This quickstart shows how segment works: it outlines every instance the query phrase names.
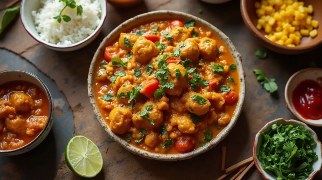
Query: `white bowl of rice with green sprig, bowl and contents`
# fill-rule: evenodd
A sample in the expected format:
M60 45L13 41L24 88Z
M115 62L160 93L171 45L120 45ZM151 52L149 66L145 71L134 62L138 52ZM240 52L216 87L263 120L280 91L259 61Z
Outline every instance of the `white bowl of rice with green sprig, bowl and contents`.
M65 7L66 6L66 7ZM56 51L91 43L107 15L106 0L23 0L21 21L33 39Z

